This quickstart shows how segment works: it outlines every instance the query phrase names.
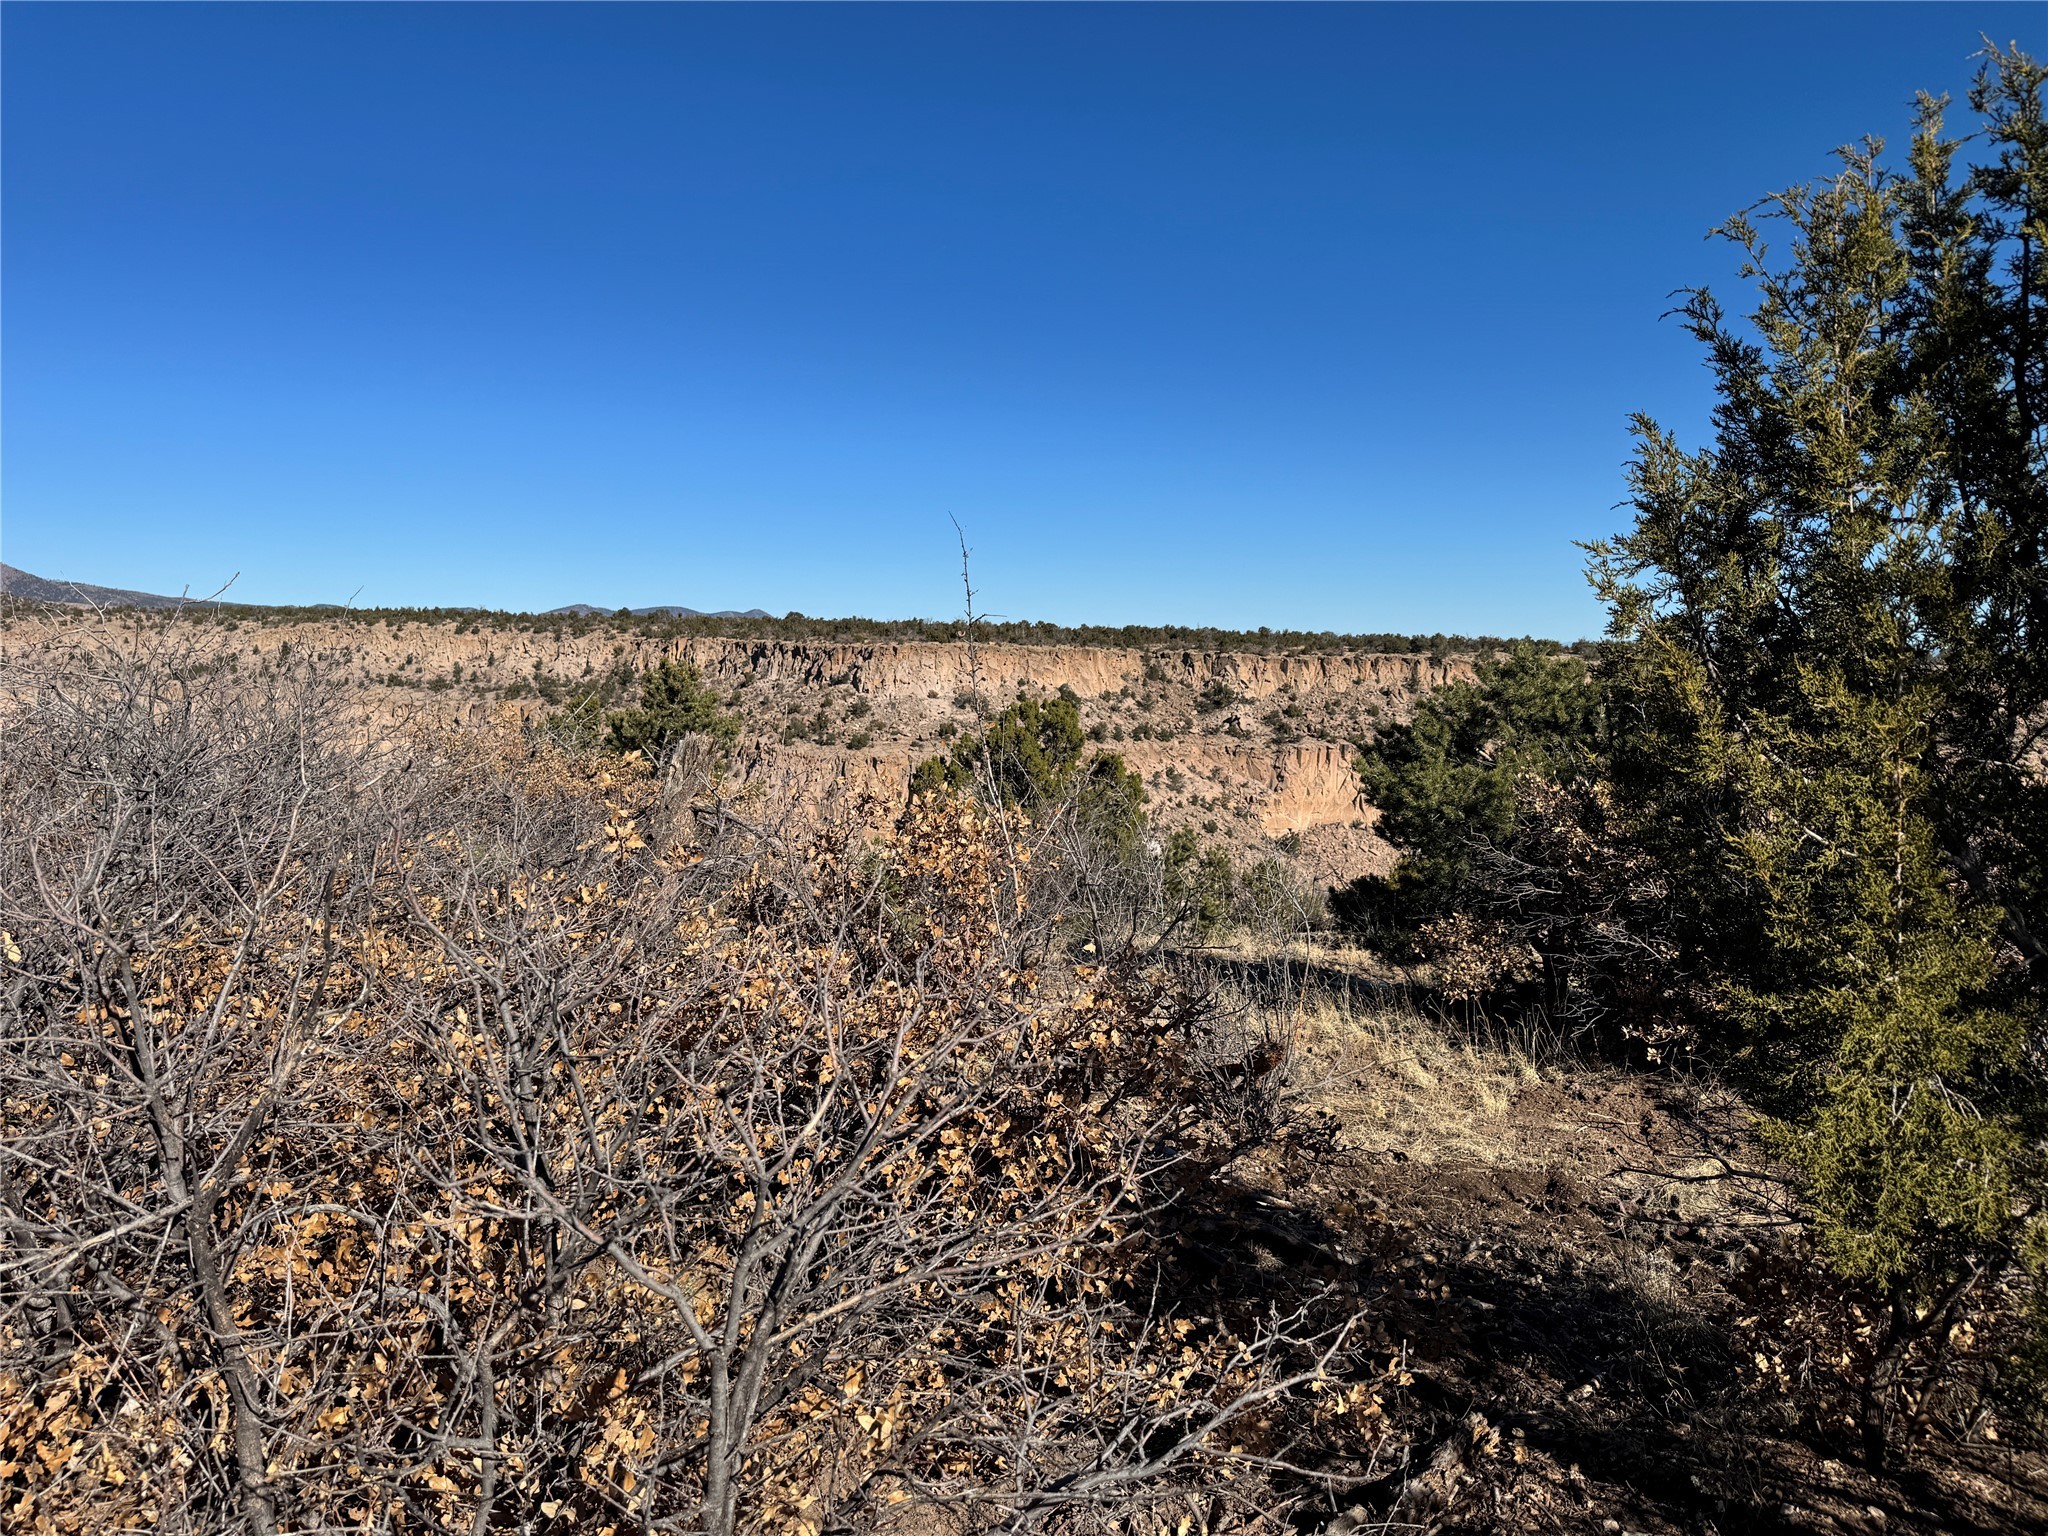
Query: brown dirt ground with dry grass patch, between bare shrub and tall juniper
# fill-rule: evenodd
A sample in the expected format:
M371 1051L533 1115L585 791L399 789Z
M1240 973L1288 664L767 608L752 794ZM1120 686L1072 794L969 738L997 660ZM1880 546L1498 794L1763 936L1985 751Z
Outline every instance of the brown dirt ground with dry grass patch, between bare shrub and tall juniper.
M1356 1294L1409 1444L1296 1528L2048 1532L2042 1440L1995 1393L1931 1401L1864 1470L1868 1313L1808 1262L1733 1096L1358 997L1296 1020L1292 1130L1227 1169L1214 1221L1245 1264ZM1956 1374L1982 1386L1999 1350L1966 1337Z

